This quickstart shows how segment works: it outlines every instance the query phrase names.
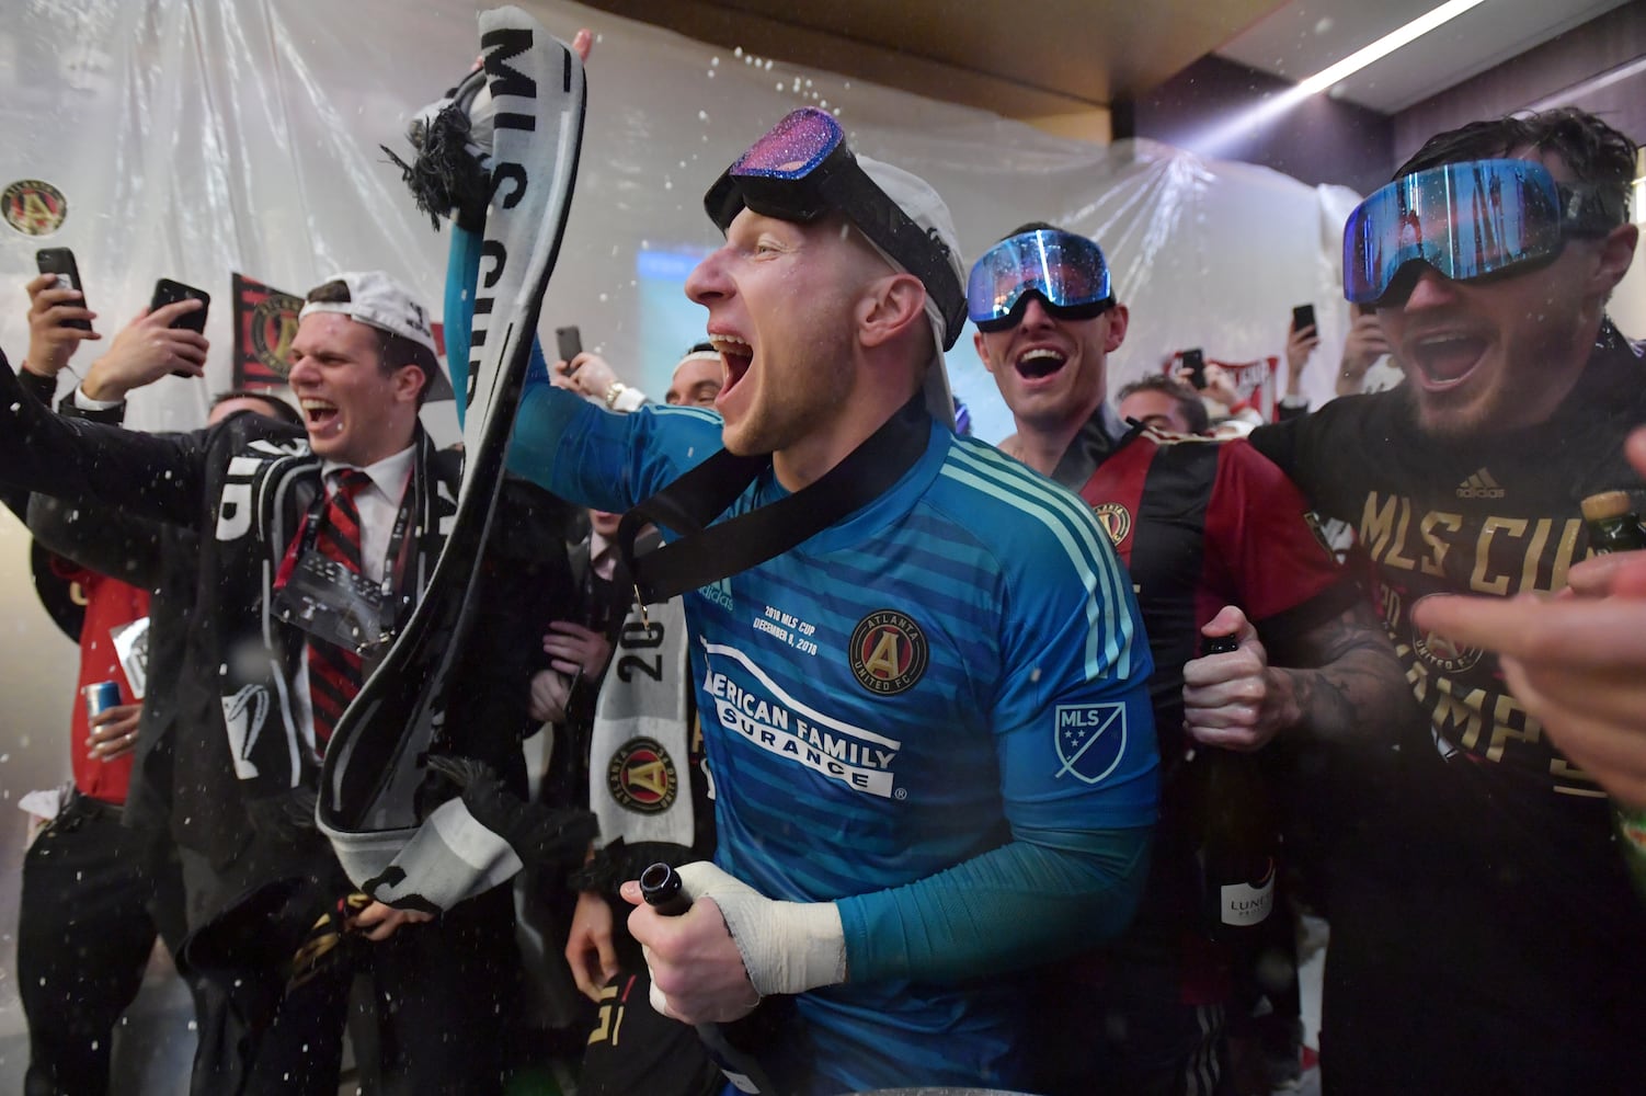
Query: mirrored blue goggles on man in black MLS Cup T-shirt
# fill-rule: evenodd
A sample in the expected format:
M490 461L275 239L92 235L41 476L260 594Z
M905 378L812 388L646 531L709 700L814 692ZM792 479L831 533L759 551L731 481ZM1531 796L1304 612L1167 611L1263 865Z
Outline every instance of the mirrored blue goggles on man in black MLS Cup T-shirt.
M1618 194L1555 183L1531 160L1472 160L1417 171L1363 201L1343 227L1343 296L1373 304L1422 262L1465 281L1549 262L1572 237L1623 224Z

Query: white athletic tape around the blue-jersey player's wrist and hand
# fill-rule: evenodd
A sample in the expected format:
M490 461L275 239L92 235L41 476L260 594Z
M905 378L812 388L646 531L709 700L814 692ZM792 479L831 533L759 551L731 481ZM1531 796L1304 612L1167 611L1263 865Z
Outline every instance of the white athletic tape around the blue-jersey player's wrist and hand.
M846 930L833 902L774 902L708 861L680 869L691 900L714 899L762 997L846 981Z

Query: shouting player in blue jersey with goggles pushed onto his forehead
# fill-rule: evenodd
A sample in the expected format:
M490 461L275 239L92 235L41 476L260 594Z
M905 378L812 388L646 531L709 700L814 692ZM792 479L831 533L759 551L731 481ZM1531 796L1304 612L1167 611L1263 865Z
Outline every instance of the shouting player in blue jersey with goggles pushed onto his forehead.
M782 1091L1019 1086L1012 973L1121 931L1147 867L1131 583L1075 495L950 430L963 268L930 186L800 110L706 206L726 245L686 291L714 411L538 382L510 454L606 510L742 469L706 532L662 522L663 551L772 553L685 596L719 848L681 871L690 912L630 915L653 1004L729 1022L792 996L759 1055Z

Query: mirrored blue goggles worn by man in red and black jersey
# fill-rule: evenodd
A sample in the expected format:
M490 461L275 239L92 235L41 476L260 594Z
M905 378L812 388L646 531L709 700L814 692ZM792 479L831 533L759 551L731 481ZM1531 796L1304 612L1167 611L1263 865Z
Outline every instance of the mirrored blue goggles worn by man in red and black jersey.
M1113 306L1103 248L1057 229L1006 237L971 268L966 314L978 331L1016 327L1030 293L1062 319L1090 319Z

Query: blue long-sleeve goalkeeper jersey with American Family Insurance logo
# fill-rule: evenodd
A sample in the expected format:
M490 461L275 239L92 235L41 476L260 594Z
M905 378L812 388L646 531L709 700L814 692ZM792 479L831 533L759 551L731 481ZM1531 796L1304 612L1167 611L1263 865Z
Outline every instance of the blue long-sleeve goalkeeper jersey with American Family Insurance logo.
M532 383L510 467L621 512L719 448L711 411ZM767 471L729 513L782 495ZM841 910L848 982L800 997L820 1091L1021 1083L1022 987L984 976L1118 931L1155 816L1149 648L1090 510L933 423L884 495L686 612L716 861Z

